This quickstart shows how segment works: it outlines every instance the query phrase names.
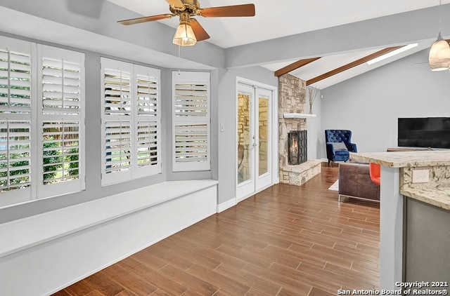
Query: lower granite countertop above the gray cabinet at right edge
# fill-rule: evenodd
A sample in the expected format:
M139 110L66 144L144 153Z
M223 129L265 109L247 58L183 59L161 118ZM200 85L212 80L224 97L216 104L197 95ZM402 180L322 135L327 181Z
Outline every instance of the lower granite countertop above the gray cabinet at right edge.
M400 194L444 210L450 210L450 187L405 189L400 190Z

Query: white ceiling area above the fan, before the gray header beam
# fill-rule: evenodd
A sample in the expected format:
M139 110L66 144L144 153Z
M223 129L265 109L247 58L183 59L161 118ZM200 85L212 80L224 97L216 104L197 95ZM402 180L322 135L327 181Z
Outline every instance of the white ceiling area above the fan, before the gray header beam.
M141 15L169 12L165 0L108 0ZM437 0L199 0L202 8L254 3L252 18L196 17L210 34L208 42L222 48L393 15L439 5ZM442 4L450 3L443 0ZM177 18L160 22L176 27Z

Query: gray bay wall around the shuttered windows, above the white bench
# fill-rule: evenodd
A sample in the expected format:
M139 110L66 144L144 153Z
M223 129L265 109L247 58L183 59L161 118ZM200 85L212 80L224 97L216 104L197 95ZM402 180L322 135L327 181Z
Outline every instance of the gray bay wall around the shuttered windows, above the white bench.
M17 36L16 36L17 37ZM35 41L35 40L34 40ZM38 41L39 43L46 43ZM52 44L53 46L55 44ZM60 46L68 48L67 46ZM155 67L154 65L147 65L161 69L161 102L162 102L162 173L150 177L143 177L138 180L129 182L122 182L120 184L113 184L107 187L101 187L101 53L92 53L83 51L79 48L69 48L72 50L82 51L86 55L86 189L84 191L67 194L64 196L56 196L51 199L42 199L24 203L17 206L0 209L0 223L10 220L27 217L44 213L49 210L56 210L66 206L72 206L77 203L100 199L112 194L118 194L124 191L129 191L139 187L157 184L166 180L202 180L215 179L217 180L217 83L218 71L212 71L212 123L211 123L211 137L212 137L212 151L211 151L211 170L200 172L172 172L172 69L165 69ZM146 65L143 62L136 60L126 60L122 58L108 56L108 58L115 58L117 60L124 60L127 62L134 62L140 65ZM263 69L263 68L259 68ZM187 69L188 70L188 69ZM263 71L264 72L264 71ZM273 75L272 75L273 76Z

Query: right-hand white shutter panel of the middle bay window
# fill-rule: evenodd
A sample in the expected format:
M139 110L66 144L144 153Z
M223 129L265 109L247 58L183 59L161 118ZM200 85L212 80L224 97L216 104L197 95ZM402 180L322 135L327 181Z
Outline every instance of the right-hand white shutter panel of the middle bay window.
M160 70L134 65L136 177L161 173Z

